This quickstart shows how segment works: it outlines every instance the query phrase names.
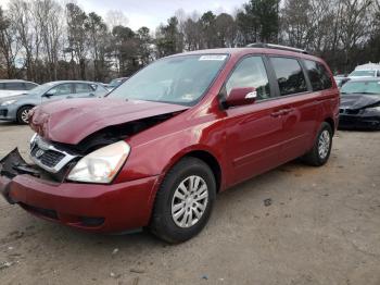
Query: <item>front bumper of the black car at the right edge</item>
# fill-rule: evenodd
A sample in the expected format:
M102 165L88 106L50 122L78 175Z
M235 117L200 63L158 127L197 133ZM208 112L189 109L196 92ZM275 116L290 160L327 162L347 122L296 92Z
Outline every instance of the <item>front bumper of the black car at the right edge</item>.
M341 129L380 129L380 116L340 114L339 128Z

